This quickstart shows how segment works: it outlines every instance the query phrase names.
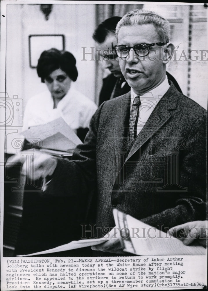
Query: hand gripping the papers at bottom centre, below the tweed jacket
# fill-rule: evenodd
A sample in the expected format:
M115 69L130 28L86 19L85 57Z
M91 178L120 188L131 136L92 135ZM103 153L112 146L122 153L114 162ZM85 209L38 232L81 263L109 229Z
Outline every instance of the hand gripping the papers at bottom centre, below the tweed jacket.
M104 237L109 237L110 239L107 242L104 242L103 244L92 246L91 249L94 251L124 254L124 251L121 247L121 243L119 239L120 233L117 228L113 228Z

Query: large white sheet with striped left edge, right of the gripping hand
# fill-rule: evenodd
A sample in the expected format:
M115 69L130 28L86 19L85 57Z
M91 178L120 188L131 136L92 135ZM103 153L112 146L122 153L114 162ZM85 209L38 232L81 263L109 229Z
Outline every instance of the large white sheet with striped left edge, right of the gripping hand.
M113 210L116 226L123 229L121 244L124 251L137 255L205 255L202 246L185 246L180 239L149 226L134 217Z

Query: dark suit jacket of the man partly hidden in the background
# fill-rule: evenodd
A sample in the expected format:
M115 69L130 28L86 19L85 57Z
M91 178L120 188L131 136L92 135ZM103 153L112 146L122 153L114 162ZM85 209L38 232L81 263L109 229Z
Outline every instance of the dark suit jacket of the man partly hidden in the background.
M173 82L175 85L176 89L182 93L180 86L178 85L176 79L168 72L166 72L166 75L168 77L168 81ZM113 92L114 86L116 84L118 78L114 76L114 74L108 75L106 78L103 79L103 86L101 88L100 96L99 96L99 105L101 105L104 101L110 100L111 94ZM120 92L118 93L117 96L121 96L123 94L126 94L130 91L130 86L122 76L122 82L125 82L125 85L121 88Z

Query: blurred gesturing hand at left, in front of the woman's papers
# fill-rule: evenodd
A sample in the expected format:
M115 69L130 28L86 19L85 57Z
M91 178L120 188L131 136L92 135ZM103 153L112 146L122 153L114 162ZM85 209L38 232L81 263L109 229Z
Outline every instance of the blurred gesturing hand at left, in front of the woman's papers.
M57 159L38 150L34 150L33 153L26 150L10 157L6 162L6 167L20 163L22 164L22 174L34 181L51 176L57 166Z

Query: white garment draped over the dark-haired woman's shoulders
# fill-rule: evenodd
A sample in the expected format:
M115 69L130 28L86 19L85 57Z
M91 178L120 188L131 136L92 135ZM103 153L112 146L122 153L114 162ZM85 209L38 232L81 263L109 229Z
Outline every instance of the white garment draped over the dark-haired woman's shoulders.
M24 110L23 128L44 124L62 117L76 132L79 127L88 127L97 105L85 95L71 87L67 94L59 101L57 108L53 109L53 98L49 91L31 97Z

